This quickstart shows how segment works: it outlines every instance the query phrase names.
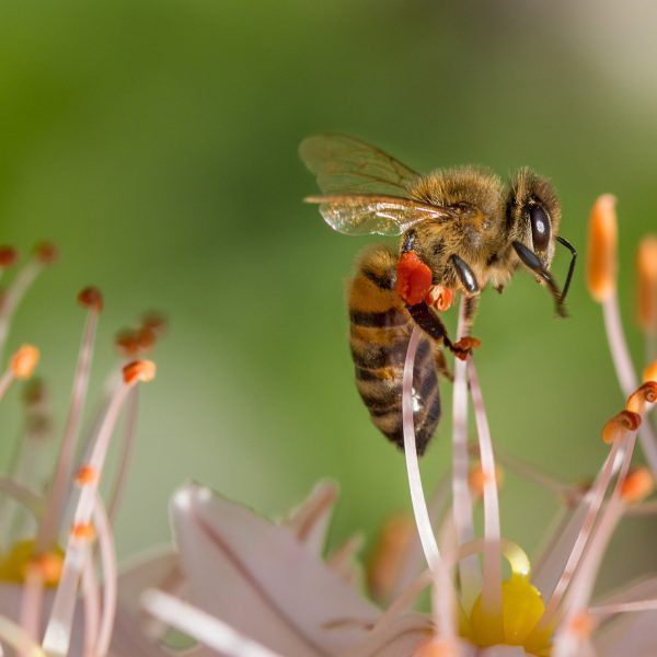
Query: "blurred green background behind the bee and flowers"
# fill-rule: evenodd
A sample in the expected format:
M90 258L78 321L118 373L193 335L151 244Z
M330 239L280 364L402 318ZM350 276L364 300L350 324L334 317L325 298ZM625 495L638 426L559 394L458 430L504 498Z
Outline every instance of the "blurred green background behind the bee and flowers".
M362 530L370 545L408 506L403 459L368 420L346 339L344 280L371 240L332 232L301 203L316 191L297 155L310 134L358 136L420 171L531 165L554 181L580 253L592 200L616 194L638 364L633 257L655 227L656 23L652 3L612 0L3 3L0 240L61 249L10 344L42 347L61 423L81 287L106 296L96 395L115 331L151 308L171 319L142 391L120 556L169 540L169 496L191 479L274 515L335 479L332 544ZM557 279L566 268L560 253ZM494 440L568 481L597 471L599 429L622 404L583 274L567 321L519 275L502 297L484 293L474 332ZM3 406L3 460L18 395ZM428 488L449 425L448 411L423 463ZM508 475L503 505L505 533L535 549L555 502ZM655 567L654 529L624 523L610 580L642 551Z

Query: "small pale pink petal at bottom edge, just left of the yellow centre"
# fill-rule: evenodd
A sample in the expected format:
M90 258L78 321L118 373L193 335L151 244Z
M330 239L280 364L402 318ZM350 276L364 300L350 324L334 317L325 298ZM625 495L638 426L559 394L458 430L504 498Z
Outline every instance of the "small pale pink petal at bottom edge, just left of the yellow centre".
M431 633L429 616L418 613L396 616L341 657L413 657Z

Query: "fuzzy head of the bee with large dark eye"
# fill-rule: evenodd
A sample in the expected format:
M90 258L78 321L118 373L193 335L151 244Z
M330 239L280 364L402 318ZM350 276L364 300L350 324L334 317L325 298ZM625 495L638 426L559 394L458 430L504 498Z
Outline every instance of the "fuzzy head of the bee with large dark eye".
M506 201L506 224L511 241L537 254L545 269L554 257L561 222L561 204L552 184L529 169L511 178Z

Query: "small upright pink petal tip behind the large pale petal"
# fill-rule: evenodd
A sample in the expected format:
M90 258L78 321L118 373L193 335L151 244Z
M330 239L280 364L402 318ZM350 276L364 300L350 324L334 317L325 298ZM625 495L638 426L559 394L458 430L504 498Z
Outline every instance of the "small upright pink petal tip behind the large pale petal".
M319 482L281 525L289 527L313 554L320 555L326 542L336 500L337 486L333 482Z

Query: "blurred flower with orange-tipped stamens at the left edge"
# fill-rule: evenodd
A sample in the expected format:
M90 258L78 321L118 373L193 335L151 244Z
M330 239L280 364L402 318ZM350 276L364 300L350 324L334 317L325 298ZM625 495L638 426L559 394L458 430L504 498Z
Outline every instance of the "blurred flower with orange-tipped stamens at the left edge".
M0 354L20 301L39 272L55 258L56 250L50 244L37 245L4 290L0 303ZM0 273L15 261L13 249L0 247ZM132 353L130 359L122 359L118 370L112 373L110 392L101 411L92 428L84 434L82 463L76 465L103 297L100 290L89 287L78 295L78 302L87 311L87 325L51 477L44 481L41 474L44 447L53 429L47 394L41 381L31 380L24 391L25 429L13 472L0 479L3 494L0 498L0 641L25 655L102 657L107 654L116 611L117 578L111 522L128 459L123 459L107 504L99 493L99 484L124 406L127 417L124 451L129 452L138 414L136 387L151 380L155 371L154 364L138 358L137 353ZM142 331L147 326L154 336L150 320L145 322ZM20 347L0 377L0 397L14 381L31 379L38 359L39 351L33 345ZM103 575L102 591L96 564Z

